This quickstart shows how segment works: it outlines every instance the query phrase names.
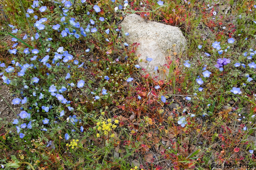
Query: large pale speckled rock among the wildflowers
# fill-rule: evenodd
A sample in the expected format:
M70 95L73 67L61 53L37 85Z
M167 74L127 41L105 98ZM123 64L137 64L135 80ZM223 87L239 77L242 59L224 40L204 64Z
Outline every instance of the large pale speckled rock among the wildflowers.
M135 42L140 44L135 53L138 56L138 65L147 69L152 77L159 76L158 80L166 78L168 69L166 69L165 75L161 70L157 73L154 69L156 66L160 68L168 64L165 57L170 56L170 59L174 60L174 53L176 53L177 58L185 50L187 41L180 29L155 21L145 21L136 14L126 16L121 26L126 43L129 45ZM125 32L128 32L129 36L125 36ZM148 62L146 61L147 57L153 58L153 60ZM141 60L143 62L140 62ZM144 71L141 71L141 73L144 73Z

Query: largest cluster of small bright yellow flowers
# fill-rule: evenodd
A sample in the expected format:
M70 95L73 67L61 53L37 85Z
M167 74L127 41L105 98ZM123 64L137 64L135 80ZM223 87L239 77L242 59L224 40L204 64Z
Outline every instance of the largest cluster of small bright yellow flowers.
M115 120L114 123L118 123L118 120ZM111 123L111 119L106 121L98 122L97 123L97 130L101 131L104 135L108 135L110 131L114 130L117 126ZM97 137L100 137L100 134L96 134ZM111 134L110 137L114 137L114 134Z

